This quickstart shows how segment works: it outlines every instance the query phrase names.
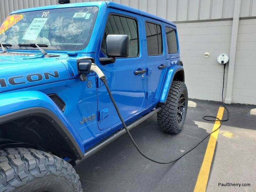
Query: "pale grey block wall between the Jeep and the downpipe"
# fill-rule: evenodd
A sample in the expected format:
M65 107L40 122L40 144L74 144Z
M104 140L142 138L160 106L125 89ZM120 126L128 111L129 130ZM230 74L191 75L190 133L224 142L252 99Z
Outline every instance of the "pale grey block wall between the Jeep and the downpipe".
M177 24L188 97L221 101L223 65L217 56L229 54L232 20ZM204 57L209 52L209 57ZM228 66L226 68L227 80ZM226 81L224 94L226 93ZM224 95L225 98L225 95Z

